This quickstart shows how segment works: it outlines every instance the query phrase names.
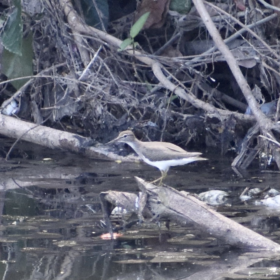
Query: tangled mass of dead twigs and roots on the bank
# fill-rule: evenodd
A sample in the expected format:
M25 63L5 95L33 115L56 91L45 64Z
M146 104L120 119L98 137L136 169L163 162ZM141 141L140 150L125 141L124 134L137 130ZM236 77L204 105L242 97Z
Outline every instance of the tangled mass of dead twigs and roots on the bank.
M234 150L237 167L259 156L279 168L279 8L194 1L183 15L161 3L160 24L120 52L134 13L105 31L86 25L68 0L38 1L40 16L24 19L35 76L16 92L2 82L2 108L15 99L18 117L100 142L131 128L150 140Z

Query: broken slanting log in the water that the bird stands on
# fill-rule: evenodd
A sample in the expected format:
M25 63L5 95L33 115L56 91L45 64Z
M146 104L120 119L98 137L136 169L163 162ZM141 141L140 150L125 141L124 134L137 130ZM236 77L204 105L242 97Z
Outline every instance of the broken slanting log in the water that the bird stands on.
M139 217L164 217L181 225L191 224L233 246L280 250L279 244L224 217L186 192L179 192L169 186L157 187L135 178L141 190L140 199L134 194L109 191L101 194L101 201L108 201L133 212L138 211Z

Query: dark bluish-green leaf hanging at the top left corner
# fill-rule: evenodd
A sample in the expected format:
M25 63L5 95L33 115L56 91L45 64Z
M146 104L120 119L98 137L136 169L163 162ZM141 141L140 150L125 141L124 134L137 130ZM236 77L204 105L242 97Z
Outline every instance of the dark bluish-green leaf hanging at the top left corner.
M21 55L23 27L21 21L21 2L20 0L14 0L13 3L15 5L14 10L8 17L0 37L6 50Z

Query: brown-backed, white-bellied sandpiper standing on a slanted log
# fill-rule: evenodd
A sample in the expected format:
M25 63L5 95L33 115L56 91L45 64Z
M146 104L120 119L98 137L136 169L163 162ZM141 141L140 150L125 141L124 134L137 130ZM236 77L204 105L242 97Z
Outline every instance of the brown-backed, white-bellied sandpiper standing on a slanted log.
M170 166L184 165L197 160L207 160L199 157L201 153L187 152L172 143L142 142L130 130L121 132L117 138L107 144L114 142L127 143L145 163L156 166L161 172L161 177L152 183L159 181L159 185L162 184L163 179L167 176Z

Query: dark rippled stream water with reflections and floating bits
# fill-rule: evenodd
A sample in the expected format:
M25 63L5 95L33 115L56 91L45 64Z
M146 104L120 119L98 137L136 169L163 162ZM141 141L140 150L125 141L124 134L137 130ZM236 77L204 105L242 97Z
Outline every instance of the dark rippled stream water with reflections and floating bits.
M280 278L280 256L233 248L191 227L146 222L102 240L100 192L137 193L134 176L151 180L160 172L27 143L18 148L9 161L0 160L2 279ZM165 183L194 194L230 191L226 204L214 208L280 243L280 212L238 198L246 187L279 189L280 175L254 169L239 178L231 159L206 156L208 162L170 169Z

